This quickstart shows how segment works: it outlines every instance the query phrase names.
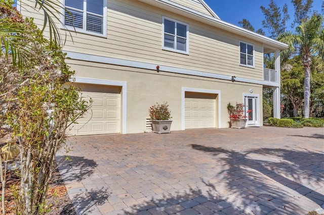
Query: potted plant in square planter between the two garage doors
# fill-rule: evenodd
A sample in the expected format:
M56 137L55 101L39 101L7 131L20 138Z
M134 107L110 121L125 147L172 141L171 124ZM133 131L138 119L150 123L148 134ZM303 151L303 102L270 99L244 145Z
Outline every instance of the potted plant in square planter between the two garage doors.
M168 102L163 104L156 104L150 106L149 115L152 122L152 129L154 133L170 133L171 123L171 111L169 110Z

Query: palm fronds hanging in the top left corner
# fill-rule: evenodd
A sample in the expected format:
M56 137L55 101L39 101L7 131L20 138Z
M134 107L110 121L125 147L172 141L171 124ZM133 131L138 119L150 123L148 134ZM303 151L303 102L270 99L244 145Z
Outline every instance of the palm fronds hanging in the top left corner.
M61 46L62 38L56 27L56 22L61 23L60 10L62 8L64 9L62 3L59 0L34 0L34 2L34 9L42 11L44 14L42 32L48 27L50 33L49 39L52 42L51 45L55 47ZM13 0L0 1L0 56L4 55L6 59L10 56L12 58L12 64L14 66L17 65L18 69L21 70L30 54L29 47L26 47L26 44L21 41L26 41L26 39L30 40L35 37L33 35L26 35L26 31L22 25L22 16L12 7L13 4ZM24 8L24 4L28 3L21 1L21 4L21 8Z

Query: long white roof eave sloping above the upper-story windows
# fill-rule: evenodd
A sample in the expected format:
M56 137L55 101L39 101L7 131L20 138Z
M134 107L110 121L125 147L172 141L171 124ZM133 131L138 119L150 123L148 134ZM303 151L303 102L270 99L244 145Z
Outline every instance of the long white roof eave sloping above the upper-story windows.
M163 5L167 6L167 7L172 7L176 10L180 10L182 12L185 12L186 14L191 15L191 16L187 16L187 17L192 18L196 21L200 21L200 22L206 23L208 25L215 26L217 28L220 28L220 29L223 29L228 32L232 32L232 33L235 33L235 34L238 34L241 36L252 38L254 40L262 42L265 45L273 46L279 50L284 50L284 49L288 48L288 45L286 43L279 42L275 39L271 39L269 37L255 33L253 31L249 31L247 29L230 24L230 23L225 22L221 19L197 12L195 10L189 9L189 8L179 5L177 3L171 2L170 0L138 0L138 1L144 2L148 5L153 5L155 7L162 8L162 9L166 9L165 7L162 7ZM166 9L166 10L168 10L168 9ZM170 11L170 9L169 9L169 11Z

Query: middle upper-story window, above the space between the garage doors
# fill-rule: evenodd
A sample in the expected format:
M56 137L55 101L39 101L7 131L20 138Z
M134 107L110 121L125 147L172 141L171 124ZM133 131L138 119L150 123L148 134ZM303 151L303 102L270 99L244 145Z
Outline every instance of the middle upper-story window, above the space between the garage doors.
M163 48L166 50L189 53L188 25L163 18Z

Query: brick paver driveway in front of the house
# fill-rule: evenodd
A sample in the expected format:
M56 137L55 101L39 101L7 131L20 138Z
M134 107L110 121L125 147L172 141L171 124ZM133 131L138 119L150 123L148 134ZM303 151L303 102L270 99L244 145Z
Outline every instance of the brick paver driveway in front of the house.
M78 214L306 214L324 206L324 129L71 137ZM58 156L60 158L62 156Z

